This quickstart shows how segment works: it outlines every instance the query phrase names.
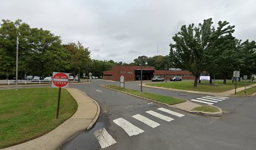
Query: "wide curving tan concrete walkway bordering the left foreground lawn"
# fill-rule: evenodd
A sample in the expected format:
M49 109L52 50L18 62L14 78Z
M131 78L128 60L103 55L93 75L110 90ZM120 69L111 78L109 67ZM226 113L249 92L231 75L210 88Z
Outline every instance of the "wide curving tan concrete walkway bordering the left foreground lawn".
M53 129L53 131L50 131L50 133L3 150L59 149L62 144L65 144L73 136L92 128L93 124L99 118L99 104L78 89L68 88L67 90L78 104L78 109L71 118Z

